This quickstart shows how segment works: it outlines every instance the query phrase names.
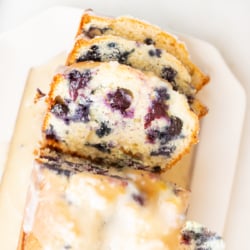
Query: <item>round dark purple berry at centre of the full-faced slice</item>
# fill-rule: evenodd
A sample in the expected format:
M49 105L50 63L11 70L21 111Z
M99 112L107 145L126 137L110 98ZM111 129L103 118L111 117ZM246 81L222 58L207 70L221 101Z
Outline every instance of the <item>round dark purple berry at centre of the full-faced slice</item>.
M132 94L127 89L118 88L115 92L108 93L107 102L112 109L119 110L126 115L126 110L132 102Z

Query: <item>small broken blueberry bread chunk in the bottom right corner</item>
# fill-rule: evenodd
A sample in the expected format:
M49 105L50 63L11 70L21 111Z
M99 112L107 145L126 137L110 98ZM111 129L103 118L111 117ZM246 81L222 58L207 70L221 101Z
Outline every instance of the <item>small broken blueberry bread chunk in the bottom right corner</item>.
M224 250L225 244L221 236L205 226L187 221L182 228L180 250Z

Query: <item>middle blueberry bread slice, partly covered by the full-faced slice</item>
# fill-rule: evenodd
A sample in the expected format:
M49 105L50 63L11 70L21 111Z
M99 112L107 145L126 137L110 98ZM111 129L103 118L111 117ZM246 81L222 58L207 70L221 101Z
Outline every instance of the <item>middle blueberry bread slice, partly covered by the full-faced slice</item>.
M118 36L103 35L91 40L79 39L68 56L67 65L84 61L118 61L134 68L150 71L171 83L174 90L187 96L193 111L202 117L207 108L195 99L196 89L183 64L165 50Z

